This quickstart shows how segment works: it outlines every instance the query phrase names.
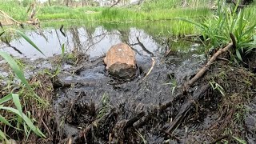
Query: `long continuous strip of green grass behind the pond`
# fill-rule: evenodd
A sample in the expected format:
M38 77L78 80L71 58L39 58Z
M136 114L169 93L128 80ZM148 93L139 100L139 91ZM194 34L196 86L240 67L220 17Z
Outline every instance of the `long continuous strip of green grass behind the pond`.
M87 13L87 11L94 11ZM46 6L38 13L38 18L42 20L56 19L77 19L84 22L145 22L171 20L176 17L200 18L210 15L210 10L206 8L191 9L171 9L143 11L128 8L70 8L66 6Z

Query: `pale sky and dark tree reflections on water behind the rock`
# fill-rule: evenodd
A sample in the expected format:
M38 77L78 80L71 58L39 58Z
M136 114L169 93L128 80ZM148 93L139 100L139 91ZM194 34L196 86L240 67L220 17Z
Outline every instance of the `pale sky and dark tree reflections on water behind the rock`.
M169 49L170 47L168 46L168 38L161 39L158 35L152 36L146 34L145 30L134 27L126 30L106 30L103 26L98 26L94 30L86 27L71 27L64 33L65 35L60 30L48 28L42 30L41 33L39 31L27 31L26 35L42 50L46 57L61 54L62 44L65 44L66 52L81 51L89 54L90 58L105 54L111 46L120 42L126 42L132 46L137 53L137 57L156 56L165 53L166 48ZM168 43L163 42L164 39L168 39ZM3 48L14 56L32 59L44 58L22 38L11 41L10 45L22 52L22 54L19 54L17 50L10 48L10 46Z

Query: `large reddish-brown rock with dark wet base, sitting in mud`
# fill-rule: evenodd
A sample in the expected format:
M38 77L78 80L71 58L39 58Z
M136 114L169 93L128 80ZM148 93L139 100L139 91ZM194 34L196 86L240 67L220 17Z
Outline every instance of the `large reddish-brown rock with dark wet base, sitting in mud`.
M106 53L104 63L106 70L114 77L130 79L136 74L134 50L124 43L111 46Z

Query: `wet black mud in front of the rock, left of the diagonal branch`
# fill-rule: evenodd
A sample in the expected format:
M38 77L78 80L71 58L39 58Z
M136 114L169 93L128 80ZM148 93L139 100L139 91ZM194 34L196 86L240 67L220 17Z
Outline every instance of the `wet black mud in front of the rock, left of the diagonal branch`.
M102 61L88 68L83 63L85 68L79 70L78 74L65 71L58 74L59 83L66 87L56 90L58 98L54 101L54 111L57 112L55 117L64 121L62 125L66 137L74 138L74 142L106 143L117 129L114 128L117 122L128 121L142 112L151 113L155 107L170 102L178 89L175 86L193 75L204 59L203 55L193 56L190 53L176 54L169 58L154 57L153 70L146 76L152 66L152 58L143 57L137 61L137 78L128 82L108 75ZM146 122L142 129L126 133L130 134L130 138L124 137L123 142L137 143L142 142L143 138L150 143L164 142L159 128L171 121L174 114L170 113L177 112L177 108L172 107L174 110L159 114L156 122ZM86 131L88 134L83 138L82 131L90 126L95 131Z

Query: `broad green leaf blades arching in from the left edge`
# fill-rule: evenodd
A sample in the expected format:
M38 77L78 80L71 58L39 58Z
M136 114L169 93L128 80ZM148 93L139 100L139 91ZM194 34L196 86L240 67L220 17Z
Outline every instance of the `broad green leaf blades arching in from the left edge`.
M6 30L3 30L2 31L2 34L3 33L6 33L6 32L10 32L10 31L14 31L16 34L20 35L22 38L24 38L27 42L30 43L30 45L34 46L34 48L36 50L38 50L39 52L42 53L42 51L38 48L38 46L36 46L34 44L34 42L32 42L30 40L30 38L28 38L26 36L26 34L22 33L21 31L19 30L14 30L14 29L6 29ZM2 35L1 34L1 35ZM43 53L42 53L43 54ZM24 76L24 73L23 71L21 70L21 68L18 66L17 62L15 62L14 58L12 58L10 56L10 54L7 54L6 52L3 52L3 51L0 51L0 56L2 56L2 58L4 58L6 60L6 62L9 63L10 65L10 68L12 70L14 70L14 73L17 75L17 77L21 80L21 82L28 88L28 90L30 91L33 91L33 89L31 88L29 82L26 81L26 78ZM34 97L38 99L39 102L42 102L42 99L38 97L37 94L34 94ZM16 109L11 107L11 106L4 106L4 103L5 102L8 102L12 100L14 102L14 106L16 106ZM8 94L6 95L5 97L1 98L0 99L0 110L6 110L6 111L9 111L10 113L14 114L16 118L13 118L13 119L16 119L15 121L17 122L17 126L19 126L19 123L22 123L23 125L23 130L26 134L26 136L28 136L30 134L30 130L32 130L35 134L37 134L39 137L42 137L42 138L45 138L46 136L44 134L42 134L42 131L38 129L38 127L34 126L34 120L33 118L30 118L28 116L26 116L26 114L24 114L22 112L22 104L20 103L20 99L19 99L19 96L18 94ZM29 114L30 115L30 114ZM20 119L22 120L22 122L20 122ZM14 129L16 130L21 130L19 127L14 127L10 124L10 122L8 122L8 120L6 120L5 117L3 117L1 114L0 114L0 122L2 122L3 124L5 124L6 126L10 126L10 127L13 127ZM0 130L0 139L2 141L5 141L7 142L8 141L8 138L9 136L7 136L2 130Z

